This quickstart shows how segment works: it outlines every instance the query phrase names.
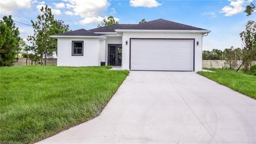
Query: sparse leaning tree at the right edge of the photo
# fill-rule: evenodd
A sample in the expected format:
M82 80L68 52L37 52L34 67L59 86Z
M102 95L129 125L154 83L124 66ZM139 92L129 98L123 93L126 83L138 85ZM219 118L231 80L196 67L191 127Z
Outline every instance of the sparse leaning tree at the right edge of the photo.
M246 6L245 13L247 16L252 15L256 11L255 5L251 3ZM244 65L244 71L247 73L249 71L249 67L251 66L251 62L255 55L256 49L256 23L253 20L247 21L245 25L245 30L240 34L243 42L243 62L238 67L236 71L238 71L242 65Z

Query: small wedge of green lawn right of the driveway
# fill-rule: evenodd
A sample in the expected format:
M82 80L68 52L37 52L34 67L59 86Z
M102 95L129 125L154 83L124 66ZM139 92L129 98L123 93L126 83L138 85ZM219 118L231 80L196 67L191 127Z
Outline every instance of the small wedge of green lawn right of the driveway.
M213 81L225 85L230 89L243 93L256 99L256 76L243 73L236 73L229 69L209 69L216 73L198 71L197 73L212 79Z

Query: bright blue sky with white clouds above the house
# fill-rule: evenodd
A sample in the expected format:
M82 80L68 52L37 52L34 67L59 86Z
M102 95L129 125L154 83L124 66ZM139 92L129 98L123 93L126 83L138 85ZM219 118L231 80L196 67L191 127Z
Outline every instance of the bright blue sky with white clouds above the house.
M256 20L255 14L246 17L243 12L251 2L254 3L252 0L1 0L0 16L12 15L15 21L28 24L15 23L24 40L34 33L29 25L45 5L51 7L55 19L65 21L71 30L96 28L108 15L113 15L119 23L161 18L211 30L208 36L203 37L203 50L224 50L242 46L239 34L248 20Z

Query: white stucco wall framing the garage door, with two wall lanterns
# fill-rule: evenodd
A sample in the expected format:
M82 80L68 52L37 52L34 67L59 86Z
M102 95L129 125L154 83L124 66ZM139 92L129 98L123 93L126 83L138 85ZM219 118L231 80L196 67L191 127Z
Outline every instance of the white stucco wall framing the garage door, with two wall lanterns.
M123 33L122 68L129 70L130 38L195 38L195 71L202 70L202 34L189 33ZM128 44L125 45L125 41ZM198 41L198 45L196 42Z

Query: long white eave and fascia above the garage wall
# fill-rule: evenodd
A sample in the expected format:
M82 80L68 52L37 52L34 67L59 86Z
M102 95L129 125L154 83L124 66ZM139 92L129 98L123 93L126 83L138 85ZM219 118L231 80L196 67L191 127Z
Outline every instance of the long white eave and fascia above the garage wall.
M115 29L117 33L210 33L211 30L151 30L151 29Z

